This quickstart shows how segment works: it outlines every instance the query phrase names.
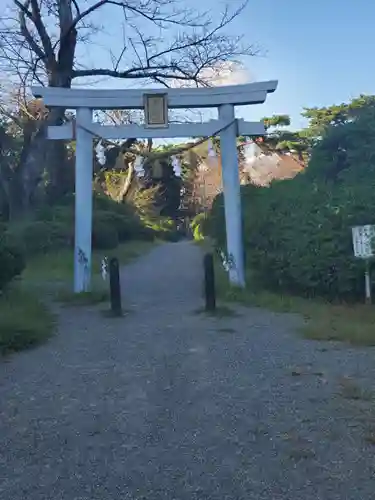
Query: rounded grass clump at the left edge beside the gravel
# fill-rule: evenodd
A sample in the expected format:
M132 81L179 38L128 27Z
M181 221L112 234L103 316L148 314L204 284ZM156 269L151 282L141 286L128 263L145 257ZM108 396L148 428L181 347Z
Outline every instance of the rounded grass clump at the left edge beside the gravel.
M52 335L54 325L48 307L19 284L0 295L0 354L44 342Z

